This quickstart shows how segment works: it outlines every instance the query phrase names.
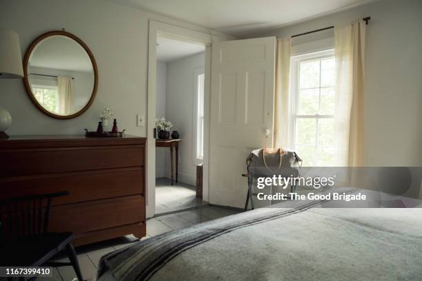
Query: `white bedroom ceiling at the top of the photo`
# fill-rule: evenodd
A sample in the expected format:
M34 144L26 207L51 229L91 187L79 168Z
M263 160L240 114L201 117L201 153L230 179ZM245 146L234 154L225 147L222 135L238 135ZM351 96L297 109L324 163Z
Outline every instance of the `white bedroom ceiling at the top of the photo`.
M107 0L244 37L374 0Z

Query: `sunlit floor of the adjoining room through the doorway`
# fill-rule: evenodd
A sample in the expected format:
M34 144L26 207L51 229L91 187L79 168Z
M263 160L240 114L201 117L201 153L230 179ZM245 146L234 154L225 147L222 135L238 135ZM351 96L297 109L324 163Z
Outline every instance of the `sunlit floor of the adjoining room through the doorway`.
M157 178L155 183L155 214L203 205L202 199L197 198L193 185L184 183L172 185L169 178Z

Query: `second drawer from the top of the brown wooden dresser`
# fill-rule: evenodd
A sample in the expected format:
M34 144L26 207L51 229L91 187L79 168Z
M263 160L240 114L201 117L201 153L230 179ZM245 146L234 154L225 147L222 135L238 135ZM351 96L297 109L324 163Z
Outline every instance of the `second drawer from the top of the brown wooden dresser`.
M28 194L49 194L57 191L68 191L69 195L54 198L52 205L134 194L143 196L143 177L143 167L136 167L1 178L0 200Z

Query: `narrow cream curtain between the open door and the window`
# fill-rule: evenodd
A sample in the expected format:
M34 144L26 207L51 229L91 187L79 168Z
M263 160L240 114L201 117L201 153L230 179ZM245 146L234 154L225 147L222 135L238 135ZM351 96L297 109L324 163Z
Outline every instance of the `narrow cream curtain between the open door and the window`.
M287 147L290 112L290 37L277 39L274 96L274 147Z

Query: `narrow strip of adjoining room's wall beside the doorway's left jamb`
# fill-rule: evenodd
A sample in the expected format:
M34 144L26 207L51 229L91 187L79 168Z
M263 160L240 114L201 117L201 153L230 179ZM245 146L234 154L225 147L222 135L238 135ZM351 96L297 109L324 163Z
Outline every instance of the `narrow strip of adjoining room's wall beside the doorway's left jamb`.
M165 84L167 80L167 63L157 61L157 93L155 101L156 116L165 117ZM165 176L165 157L169 156L168 148L157 147L155 149L155 177Z

